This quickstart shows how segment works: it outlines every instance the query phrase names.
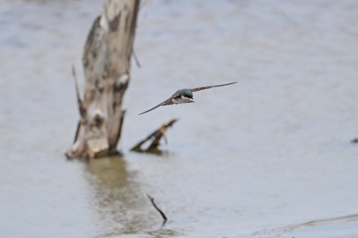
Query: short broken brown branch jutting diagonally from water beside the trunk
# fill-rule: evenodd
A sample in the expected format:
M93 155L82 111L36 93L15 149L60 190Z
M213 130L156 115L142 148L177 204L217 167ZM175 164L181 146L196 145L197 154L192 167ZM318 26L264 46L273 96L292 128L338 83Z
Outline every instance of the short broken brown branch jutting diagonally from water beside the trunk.
M138 144L136 144L131 149L131 151L146 152L146 153L153 153L153 154L161 155L163 152L158 149L159 140L164 136L164 133L166 132L166 129L168 127L171 127L174 124L174 122L176 122L176 121L177 121L177 119L173 119L169 123L163 124L158 130L156 130L152 134L148 135L147 138L145 138L144 140L142 140ZM164 136L164 138L165 138L165 136ZM141 146L144 143L146 143L147 141L150 141L152 139L153 139L153 141L152 141L152 143L149 145L149 147L147 149L142 149L141 148Z

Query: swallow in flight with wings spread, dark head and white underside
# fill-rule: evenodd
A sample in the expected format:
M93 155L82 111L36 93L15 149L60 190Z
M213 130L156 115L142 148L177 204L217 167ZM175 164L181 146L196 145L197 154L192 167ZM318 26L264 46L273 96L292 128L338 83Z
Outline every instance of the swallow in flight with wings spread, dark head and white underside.
M156 108L159 108L160 106L180 104L180 103L195 103L194 101L190 100L190 99L193 99L193 92L208 89L208 88L226 86L226 85L235 84L235 83L237 83L237 82L229 83L229 84L207 86L207 87L201 87L201 88L179 89L173 95L171 95L170 98L168 98L165 101L163 101L163 103L160 103L160 104L156 105L154 108L151 108L151 109L149 109L149 110L147 110L147 111L145 111L143 113L140 113L140 114L147 113L148 111L151 111L151 110L154 110ZM140 114L138 114L138 115L140 115Z

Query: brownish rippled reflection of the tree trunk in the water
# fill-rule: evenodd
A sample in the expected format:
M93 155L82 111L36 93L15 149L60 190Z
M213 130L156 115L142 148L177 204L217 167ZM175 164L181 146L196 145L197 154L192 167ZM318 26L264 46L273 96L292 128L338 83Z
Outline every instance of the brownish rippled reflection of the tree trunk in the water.
M137 233L156 224L157 214L135 181L136 173L127 171L121 157L90 159L87 169L86 178L95 190L91 207L99 236Z

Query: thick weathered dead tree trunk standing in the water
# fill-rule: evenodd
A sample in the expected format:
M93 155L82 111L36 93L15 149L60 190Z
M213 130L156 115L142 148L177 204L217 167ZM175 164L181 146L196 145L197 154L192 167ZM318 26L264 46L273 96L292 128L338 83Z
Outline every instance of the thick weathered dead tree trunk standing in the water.
M125 110L122 99L130 80L130 59L140 0L105 0L93 23L82 57L84 99L76 92L81 119L68 158L93 158L116 150Z

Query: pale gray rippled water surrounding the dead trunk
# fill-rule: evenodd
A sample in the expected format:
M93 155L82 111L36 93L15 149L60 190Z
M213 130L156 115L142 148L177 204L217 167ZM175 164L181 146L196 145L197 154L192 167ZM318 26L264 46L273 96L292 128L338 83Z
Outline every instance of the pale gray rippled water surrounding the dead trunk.
M125 156L89 163L63 153L101 1L0 3L0 237L358 237L355 1L149 1ZM164 156L129 152L172 118Z

